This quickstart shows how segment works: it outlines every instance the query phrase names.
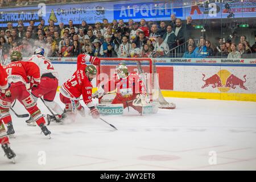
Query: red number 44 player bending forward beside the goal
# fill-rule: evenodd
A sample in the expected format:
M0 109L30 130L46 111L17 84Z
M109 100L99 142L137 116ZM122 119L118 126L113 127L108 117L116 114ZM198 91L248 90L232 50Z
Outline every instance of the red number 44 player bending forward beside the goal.
M77 111L84 116L84 107L81 106L79 99L82 99L86 106L90 109L93 118L100 117L100 113L95 108L92 101L92 80L96 77L97 69L93 65L83 66L77 69L68 81L60 88L60 100L65 104L67 114L76 114Z

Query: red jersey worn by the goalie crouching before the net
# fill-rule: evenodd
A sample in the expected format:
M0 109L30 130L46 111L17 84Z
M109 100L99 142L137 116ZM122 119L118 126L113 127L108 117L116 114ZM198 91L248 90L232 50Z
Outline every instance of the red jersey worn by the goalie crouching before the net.
M117 90L116 98L121 101L134 100L137 94L146 95L146 86L137 73L131 72L126 78L113 77L104 85L105 92Z

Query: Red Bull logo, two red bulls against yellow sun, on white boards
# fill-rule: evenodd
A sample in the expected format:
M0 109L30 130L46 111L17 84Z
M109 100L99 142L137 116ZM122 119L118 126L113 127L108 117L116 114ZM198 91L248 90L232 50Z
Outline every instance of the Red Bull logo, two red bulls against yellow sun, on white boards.
M247 90L245 85L243 85L246 82L245 77L246 75L241 79L231 74L226 69L221 69L218 73L206 79L203 74L204 85L201 88L203 89L211 85L212 88L217 88L221 92L228 92L230 89L236 89L237 86L239 86L241 89Z

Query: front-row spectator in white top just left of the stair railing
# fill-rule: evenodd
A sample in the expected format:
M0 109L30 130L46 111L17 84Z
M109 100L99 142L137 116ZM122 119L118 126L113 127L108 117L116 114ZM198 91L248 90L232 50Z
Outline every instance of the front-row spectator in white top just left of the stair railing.
M153 57L169 57L169 53L170 50L168 44L163 42L161 35L158 35L153 51Z

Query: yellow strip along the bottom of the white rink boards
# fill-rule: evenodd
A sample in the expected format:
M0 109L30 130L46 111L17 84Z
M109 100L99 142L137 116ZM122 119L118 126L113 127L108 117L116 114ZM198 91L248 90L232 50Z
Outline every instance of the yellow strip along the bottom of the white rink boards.
M57 88L59 92L60 86ZM92 92L96 92L97 88L93 88ZM201 98L226 101L252 101L256 102L256 94L250 93L207 93L207 92L178 92L170 90L162 90L164 97L178 98Z

